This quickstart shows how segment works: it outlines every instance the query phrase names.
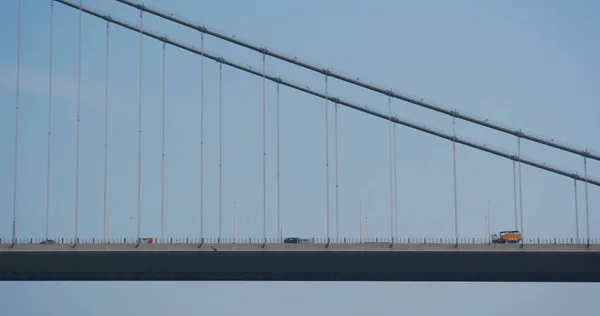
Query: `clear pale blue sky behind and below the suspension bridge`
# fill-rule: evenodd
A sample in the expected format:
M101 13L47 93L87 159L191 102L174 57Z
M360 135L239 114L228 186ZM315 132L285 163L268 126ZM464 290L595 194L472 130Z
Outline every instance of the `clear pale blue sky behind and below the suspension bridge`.
M597 74L600 71L600 5L580 1L145 1L207 26L396 91L600 151ZM131 24L139 13L115 1L84 1ZM0 235L10 237L16 76L17 1L0 12ZM55 4L53 49L53 130L50 234L74 235L75 128L77 84L77 11ZM20 154L17 217L19 236L44 234L46 137L49 74L49 1L23 1L21 42ZM198 46L197 32L144 15L144 26ZM105 23L83 16L81 76L81 237L102 236ZM109 182L111 235L128 237L129 218L137 211L137 105L139 36L111 25L109 65ZM207 37L205 48L225 58L261 67L261 56ZM143 41L142 235L160 233L161 58L158 41ZM165 235L199 235L200 58L167 47ZM324 90L324 78L267 58L272 74ZM205 233L218 235L218 64L205 62ZM223 234L232 235L232 203L237 202L238 236L262 236L262 86L261 79L223 69ZM267 232L276 232L275 97L267 82ZM382 110L387 98L336 80L332 95ZM324 101L281 88L281 223L284 236L325 236ZM447 132L452 120L393 100L396 115ZM333 105L330 104L330 226L335 235ZM359 234L359 201L369 217L369 236L389 236L388 123L339 109L340 236ZM516 151L514 137L456 122L460 136ZM404 237L452 237L452 144L397 127L399 231ZM522 142L524 156L583 173L580 157ZM599 176L598 164L588 173ZM459 235L484 237L487 201L492 230L514 226L512 163L464 146L457 147ZM585 234L584 190L578 185L580 231ZM600 190L589 186L591 236L600 227ZM523 216L526 237L574 237L573 181L523 166ZM318 287L318 289L316 288ZM508 289L510 287L510 289ZM259 289L260 288L260 289ZM56 289L60 289L60 295ZM45 306L48 314L71 311L105 314L111 308L144 315L195 311L206 298L207 310L223 314L248 309L281 314L423 311L437 306L457 315L492 315L528 309L548 315L578 309L592 313L595 285L500 284L3 284L11 315L28 315ZM54 294L52 294L54 293ZM83 296L86 293L85 296ZM193 294L193 298L190 295ZM251 293L251 294L247 294ZM261 297L253 299L261 293ZM333 294L332 294L333 293ZM394 293L394 294L391 294ZM460 294L459 294L460 293ZM498 303L498 293L508 293ZM76 306L52 295L74 295ZM80 297L77 297L80 295ZM89 296L88 296L89 295ZM223 296L248 300L228 304ZM325 298L332 297L331 300ZM386 298L386 295L390 295ZM392 296L393 295L393 296ZM589 298L586 299L586 295ZM103 304L90 303L103 297ZM163 297L139 304L148 297ZM189 296L186 298L186 296ZM273 298L273 308L259 303ZM431 296L447 300L423 304ZM127 297L127 300L124 298ZM298 298L312 304L286 301ZM477 298L479 297L479 298ZM19 298L40 307L10 305ZM167 300L168 298L168 300ZM348 300L347 298L351 298ZM364 298L364 301L363 301ZM470 298L469 301L466 298ZM544 300L545 306L535 299ZM47 301L45 301L47 300ZM181 301L177 301L181 300ZM463 300L463 301L461 301ZM270 300L271 301L271 300ZM403 303L403 301L406 301ZM110 302L108 304L104 304ZM135 302L135 303L134 303ZM245 301L244 301L245 302ZM461 303L462 302L462 303ZM476 302L476 303L473 303ZM509 302L509 303L507 303ZM420 304L417 304L420 303ZM92 304L92 305L89 305ZM161 304L161 307L149 304ZM449 305L451 304L451 305ZM468 304L468 306L467 306ZM492 307L496 304L496 307ZM289 306L298 305L289 309ZM546 305L548 307L546 307ZM68 307L67 307L68 306ZM163 307L164 306L164 307ZM80 310L77 310L80 308ZM85 309L81 309L85 308ZM204 308L204 307L203 307ZM278 310L279 308L279 310ZM302 310L301 308L306 308ZM542 310L548 308L547 310ZM346 310L347 309L347 310ZM163 312L164 313L164 312ZM487 312L486 312L487 313Z

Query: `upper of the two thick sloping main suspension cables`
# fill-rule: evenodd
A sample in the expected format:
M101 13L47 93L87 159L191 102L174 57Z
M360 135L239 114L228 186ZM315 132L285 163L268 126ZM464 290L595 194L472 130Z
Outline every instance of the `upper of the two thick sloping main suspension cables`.
M60 2L63 2L63 1L60 0ZM387 95L387 96L390 96L390 97L393 97L396 99L400 99L400 100L427 108L429 110L444 113L446 115L450 115L455 118L469 121L471 123L475 123L475 124L478 124L481 126L492 128L497 131L511 134L516 137L521 137L523 139L537 142L537 143L540 143L540 144L543 144L546 146L554 147L554 148L557 148L557 149L560 149L563 151L567 151L567 152L570 152L573 154L581 155L583 157L587 157L590 159L600 161L600 153L598 153L598 152L590 151L590 150L582 148L582 147L575 147L575 146L569 145L565 142L557 141L553 138L548 138L546 136L542 136L542 135L539 135L539 134L536 134L533 132L528 132L528 131L524 132L521 129L517 129L517 128L507 125L507 124L502 124L499 122L495 122L493 120L488 120L488 119L485 119L482 117L478 117L476 115L468 114L466 112L458 112L454 109L451 109L449 107L445 107L445 106L442 106L439 104L435 104L433 102L425 102L425 101L423 101L423 98L413 96L413 95L410 95L407 93L400 94L400 93L394 92L390 88L384 88L375 83L371 83L366 80L361 80L360 78L357 78L356 76L343 74L342 72L339 72L339 71L332 71L328 67L317 65L316 63L305 61L305 60L302 60L301 58L287 55L285 53L277 52L276 50L267 49L267 47L264 45L252 43L251 41L241 39L239 36L229 35L229 34L226 34L225 32L220 32L215 29L208 28L204 25L198 24L197 22L190 21L189 19L185 19L181 16L166 12L164 10L158 9L158 8L150 6L150 5L136 3L134 1L129 1L129 0L117 0L117 2L120 2L120 3L126 4L128 6L137 8L139 10L148 12L150 14L153 14L155 16L161 17L161 18L169 20L171 22L175 22L177 24L186 26L188 28L195 29L199 32L209 34L211 36L228 41L230 43L254 50L254 51L262 53L262 54L269 55L271 57L277 58L279 60L283 60L285 62L294 64L296 66L300 66L305 69L309 69L311 71L315 71L315 72L321 73L323 75L327 75L332 78L336 78L336 79L345 81L345 82L353 84L353 85L360 86L362 88L365 88L365 89L368 89L368 90L371 90L374 92L378 92L378 93L381 93L381 94L384 94L384 95Z

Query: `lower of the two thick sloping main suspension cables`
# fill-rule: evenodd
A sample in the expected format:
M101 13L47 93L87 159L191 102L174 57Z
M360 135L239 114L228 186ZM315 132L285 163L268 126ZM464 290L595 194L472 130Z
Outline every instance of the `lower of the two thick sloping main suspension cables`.
M72 8L76 8L76 9L78 8L77 5L74 5L74 4L72 4L72 3L70 3L69 1L66 1L66 0L55 0L55 1L59 2L59 3L62 3L62 4L65 4L67 6L70 6ZM211 59L211 60L216 61L218 63L230 66L232 68L236 68L236 69L242 70L244 72L247 72L247 73L250 73L250 74L253 74L253 75L256 75L256 76L261 76L261 77L263 76L262 71L255 70L252 67L244 66L244 65L232 62L230 60L227 60L227 59L225 59L225 58L223 58L221 56L217 56L217 55L205 52L205 51L201 51L201 50L195 48L194 46L186 45L186 44L184 44L182 42L169 39L166 36L157 35L156 33L151 32L149 30L141 30L140 28L138 28L136 26L133 26L133 25L125 23L125 22L122 22L122 21L120 21L118 19L115 19L114 17L111 17L110 15L101 14L101 13L98 13L98 12L96 12L94 10L88 9L86 7L82 7L82 11L85 12L85 13L88 13L90 15L96 16L98 18L101 18L103 20L106 20L106 21L109 21L111 23L114 23L116 25L119 25L121 27L124 27L126 29L132 30L134 32L140 32L140 33L142 33L142 34L144 34L144 35L146 35L148 37L152 37L152 38L154 38L156 40L159 40L159 41L164 41L167 44L173 45L175 47L178 47L178 48L181 48L183 50L189 51L191 53L198 54L198 55L203 55L205 58ZM290 87L292 89L295 89L295 90L298 90L298 91L301 91L301 92L304 92L304 93L307 93L307 94L311 94L313 96L316 96L316 97L319 97L319 98L322 98L322 99L328 99L331 102L337 102L337 103L339 103L341 105L344 105L346 107L355 109L357 111L360 111L360 112L363 112L363 113L366 113L366 114L369 114L369 115L373 115L373 116L379 117L379 118L384 119L384 120L389 120L390 119L389 114L387 114L387 113L383 113L383 112L381 112L379 110L370 108L368 106L357 105L355 103L352 103L352 102L347 101L345 99L342 99L340 97L328 96L328 95L326 95L326 94L324 94L322 92L318 92L316 90L313 90L313 89L311 89L310 87L308 87L306 85L301 85L301 84L295 83L295 82L293 82L291 80L282 79L281 77L270 75L270 74L266 74L265 78L268 79L268 80L270 80L270 81L279 83L281 85L285 85L287 87ZM445 133L445 132L442 132L440 130L436 130L436 129L431 128L431 127L429 127L427 125L419 124L419 123L407 120L405 118L400 118L398 116L393 116L391 118L391 120L392 120L392 122L394 122L396 124L401 124L401 125L404 125L406 127L410 127L412 129L419 130L421 132L425 132L427 134L431 134L431 135L434 135L434 136L437 136L437 137L440 137L440 138L444 138L444 139L449 140L449 141L452 141L454 139L454 136L452 134ZM510 152L508 152L506 150L502 150L502 149L495 149L495 148L493 148L491 146L488 146L488 145L485 145L485 144L481 144L481 143L478 143L478 142L475 142L475 141L467 140L464 137L456 136L455 141L457 143L459 143L459 144L466 145L466 146L469 146L469 147L472 147L472 148L475 148L475 149L478 149L478 150L481 150L481 151L484 151L484 152L487 152L487 153L490 153L490 154L493 154L493 155L496 155L496 156L500 156L500 157L503 157L503 158L506 158L506 159L509 159L509 160L512 160L512 161L520 161L521 163L527 164L529 166L532 166L532 167L535 167L535 168L538 168L538 169L542 169L542 170L546 170L546 171L549 171L549 172L552 172L552 173L556 173L556 174L559 174L559 175L562 175L562 176L565 176L565 177L568 177L568 178L571 178L571 179L575 179L575 180L579 180L579 181L585 181L585 178L582 177L582 176L580 176L576 172L565 170L564 168L555 167L555 166L552 166L550 164L543 163L543 162L540 162L540 161L536 161L536 160L533 160L533 159L525 159L523 157L519 158L514 153L510 153ZM598 179L598 178L591 178L591 177L588 176L587 177L587 183L593 184L595 186L600 186L600 179Z

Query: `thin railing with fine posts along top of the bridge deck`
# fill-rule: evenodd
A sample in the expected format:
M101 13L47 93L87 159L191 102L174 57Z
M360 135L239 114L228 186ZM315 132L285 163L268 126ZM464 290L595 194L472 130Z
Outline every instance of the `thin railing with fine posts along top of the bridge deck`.
M152 238L144 237L144 243L154 244L280 244L283 243L282 239L277 237L164 237L164 238ZM150 241L151 238L151 241ZM341 237L341 238L327 238L327 237L306 237L302 238L303 243L315 243L315 244L487 244L489 240L485 237L402 237L402 238L391 238L391 237ZM75 239L74 237L60 237L60 238L27 238L19 237L13 240L12 238L0 238L0 244L137 244L137 239L127 237L111 237L109 238L95 238L95 237L80 237ZM586 238L580 237L532 237L524 238L524 244L587 244ZM590 244L600 244L600 238L590 238Z

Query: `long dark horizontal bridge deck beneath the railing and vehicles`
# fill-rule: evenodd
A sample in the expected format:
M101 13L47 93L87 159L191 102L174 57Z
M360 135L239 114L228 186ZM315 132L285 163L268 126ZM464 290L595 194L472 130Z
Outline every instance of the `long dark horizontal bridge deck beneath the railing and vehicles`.
M16 244L0 280L600 282L600 245Z

